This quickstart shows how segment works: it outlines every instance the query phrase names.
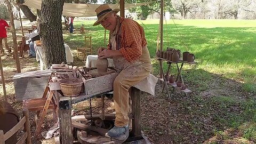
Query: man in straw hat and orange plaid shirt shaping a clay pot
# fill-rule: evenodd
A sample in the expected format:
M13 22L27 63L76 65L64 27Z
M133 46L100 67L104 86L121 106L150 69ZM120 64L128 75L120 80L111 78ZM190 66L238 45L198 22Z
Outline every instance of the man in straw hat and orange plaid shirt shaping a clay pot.
M146 78L151 71L151 60L143 27L138 22L119 17L119 9L110 9L108 4L100 5L95 12L100 25L109 30L109 44L98 49L98 58L113 58L114 65L121 72L115 78L114 106L115 126L108 131L109 137L124 140L129 136L128 114L131 113L130 88Z

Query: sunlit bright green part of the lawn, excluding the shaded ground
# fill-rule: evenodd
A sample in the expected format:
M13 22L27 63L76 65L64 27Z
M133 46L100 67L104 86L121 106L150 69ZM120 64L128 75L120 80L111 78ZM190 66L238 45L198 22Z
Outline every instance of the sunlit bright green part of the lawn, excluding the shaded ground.
M79 30L84 24L85 35L93 38L95 53L97 47L104 46L104 29L100 25L93 27L93 22L75 21L74 27ZM159 20L138 22L145 29L150 56L154 59ZM197 68L236 79L244 83L246 90L255 91L256 20L169 20L164 21L163 31L164 50L174 47L194 53ZM64 37L66 42L74 44L71 47L84 44L81 34ZM157 69L154 69L154 74L158 73Z

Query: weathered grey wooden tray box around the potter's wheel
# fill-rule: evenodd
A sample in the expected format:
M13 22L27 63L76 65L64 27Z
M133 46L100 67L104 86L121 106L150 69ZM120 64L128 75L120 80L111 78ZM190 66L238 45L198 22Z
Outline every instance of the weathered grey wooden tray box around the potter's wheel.
M79 78L81 78L84 82L85 95L96 95L104 92L113 91L113 83L115 81L115 78L120 73L120 70L114 67L109 67L109 69L114 70L113 73L95 78L85 79L81 73L84 74L86 73L85 71L89 71L90 69L95 68L84 68L83 72L79 71L80 73L78 73Z

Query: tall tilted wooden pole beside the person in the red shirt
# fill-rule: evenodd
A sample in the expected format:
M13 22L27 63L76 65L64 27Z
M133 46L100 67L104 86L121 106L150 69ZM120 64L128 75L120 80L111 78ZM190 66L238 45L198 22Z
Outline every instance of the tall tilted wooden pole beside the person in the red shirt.
M13 18L13 12L12 12L12 5L11 5L9 0L5 0L5 2L7 3L10 22L11 22L13 51L14 51L14 58L15 58L15 61L16 61L17 73L21 73L20 59L19 59L18 51L17 51L17 37L16 37L16 32L15 32L15 27L14 27L14 20L13 20L14 18Z

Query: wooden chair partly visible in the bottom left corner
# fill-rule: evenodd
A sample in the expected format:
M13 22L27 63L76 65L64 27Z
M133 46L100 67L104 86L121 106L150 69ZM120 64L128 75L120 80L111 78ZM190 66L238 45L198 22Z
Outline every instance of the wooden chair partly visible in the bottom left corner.
M24 109L22 112L23 112L23 117L21 118L20 122L16 124L11 130L7 131L5 134L3 130L0 130L0 144L4 144L7 139L12 137L12 135L15 134L22 127L22 125L24 125L25 133L21 135L17 143L23 143L25 141L26 141L26 144L32 143L28 110Z

